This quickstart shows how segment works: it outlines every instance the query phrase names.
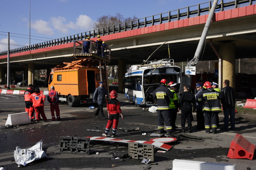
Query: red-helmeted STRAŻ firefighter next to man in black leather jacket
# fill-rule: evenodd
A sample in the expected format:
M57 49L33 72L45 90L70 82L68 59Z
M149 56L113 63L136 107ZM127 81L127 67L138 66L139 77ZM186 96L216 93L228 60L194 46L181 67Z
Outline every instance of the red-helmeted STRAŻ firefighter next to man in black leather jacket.
M210 82L205 82L203 87L206 89L198 95L198 101L203 103L205 114L205 132L210 133L210 124L213 134L217 133L217 116L221 110L220 100L223 95L213 90Z

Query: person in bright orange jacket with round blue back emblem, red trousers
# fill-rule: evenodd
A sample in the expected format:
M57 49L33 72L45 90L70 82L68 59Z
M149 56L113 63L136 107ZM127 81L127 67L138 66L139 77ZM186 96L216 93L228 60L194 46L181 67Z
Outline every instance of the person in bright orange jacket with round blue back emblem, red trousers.
M29 96L29 101L33 103L33 107L35 109L35 114L37 116L37 122L40 121L40 114L45 122L47 122L47 118L45 116L45 111L43 107L45 106L45 95L40 93L39 88L35 88L35 92Z

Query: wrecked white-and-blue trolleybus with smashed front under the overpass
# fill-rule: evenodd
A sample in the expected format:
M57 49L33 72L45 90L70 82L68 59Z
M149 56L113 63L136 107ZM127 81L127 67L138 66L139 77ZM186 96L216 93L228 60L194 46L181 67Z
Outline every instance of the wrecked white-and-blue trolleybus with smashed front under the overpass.
M125 74L125 96L136 106L157 105L152 97L161 79L177 83L177 94L181 86L181 68L174 66L173 59L147 61L144 65L132 65Z

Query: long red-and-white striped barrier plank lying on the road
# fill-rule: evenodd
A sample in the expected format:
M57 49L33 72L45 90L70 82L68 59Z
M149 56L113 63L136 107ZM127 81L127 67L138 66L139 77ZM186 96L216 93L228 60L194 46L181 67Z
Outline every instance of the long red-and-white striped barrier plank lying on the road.
M154 141L134 141L134 140L125 140L125 139L117 139L117 138L109 138L109 137L92 137L88 136L86 138L90 138L90 140L96 140L96 141L109 141L109 142L122 142L122 143L129 143L129 142L135 142L135 143L145 143L145 144L151 144L154 145L157 148L169 151L172 147L171 145L167 145L165 143L161 142L154 142Z

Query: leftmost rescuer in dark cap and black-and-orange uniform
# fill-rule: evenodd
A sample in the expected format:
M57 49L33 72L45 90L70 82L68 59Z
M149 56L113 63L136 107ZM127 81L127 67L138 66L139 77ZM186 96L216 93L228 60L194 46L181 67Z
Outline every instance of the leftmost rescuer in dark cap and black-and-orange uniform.
M25 99L25 104L26 104L25 112L27 112L29 114L29 118L31 121L35 120L33 103L31 101L29 101L29 96L34 92L33 89L34 89L33 84L29 84L29 87L24 92L24 96L23 96Z

